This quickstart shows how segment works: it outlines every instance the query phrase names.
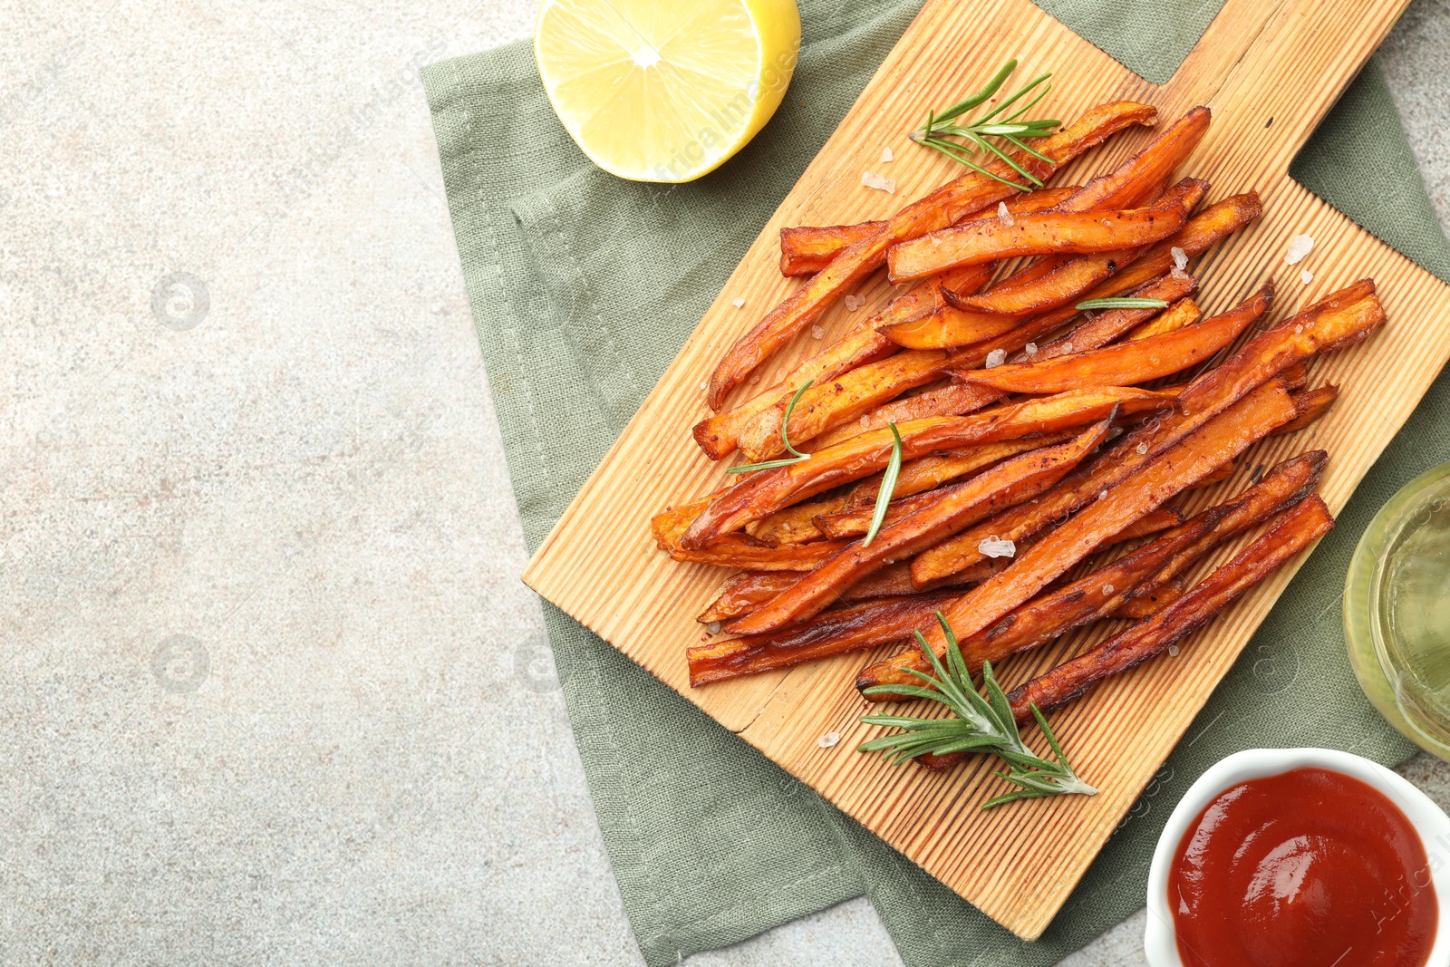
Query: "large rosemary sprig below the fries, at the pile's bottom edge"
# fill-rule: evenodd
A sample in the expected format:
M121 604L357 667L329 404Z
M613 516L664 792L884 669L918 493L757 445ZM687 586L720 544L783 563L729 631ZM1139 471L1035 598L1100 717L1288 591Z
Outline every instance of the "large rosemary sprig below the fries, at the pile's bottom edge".
M1096 789L1079 779L1073 771L1063 747L1057 744L1057 736L1047 725L1047 718L1034 705L1032 715L1037 718L1043 736L1053 748L1054 758L1043 758L1022 741L1016 729L1016 719L1012 716L1012 705L1006 693L992 676L992 663L983 663L982 680L986 684L987 696L982 697L972 684L967 673L967 663L961 657L957 636L947 623L945 615L937 612L937 621L947 632L947 665L941 667L941 660L927 644L922 634L916 632L922 654L931 663L935 676L909 670L929 687L883 684L866 689L866 694L906 694L918 699L929 699L945 705L951 718L922 719L899 715L863 715L866 725L884 725L902 729L893 735L883 735L858 747L861 752L883 752L892 764L900 764L918 755L944 755L947 752L992 752L1008 764L1005 773L998 773L1002 779L1018 786L1009 793L996 796L982 803L983 809L992 809L1002 803L1018 799L1038 799L1043 796L1095 796Z

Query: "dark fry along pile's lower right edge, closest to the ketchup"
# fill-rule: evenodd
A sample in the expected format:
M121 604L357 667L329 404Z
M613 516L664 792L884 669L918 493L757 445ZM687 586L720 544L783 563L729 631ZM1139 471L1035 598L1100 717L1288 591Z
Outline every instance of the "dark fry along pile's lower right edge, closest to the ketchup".
M1234 560L1217 568L1153 618L1138 622L1092 651L1016 687L1008 696L1019 721L1031 706L1053 709L1082 696L1109 676L1153 658L1235 602L1244 592L1298 557L1330 532L1334 516L1318 496L1301 500Z

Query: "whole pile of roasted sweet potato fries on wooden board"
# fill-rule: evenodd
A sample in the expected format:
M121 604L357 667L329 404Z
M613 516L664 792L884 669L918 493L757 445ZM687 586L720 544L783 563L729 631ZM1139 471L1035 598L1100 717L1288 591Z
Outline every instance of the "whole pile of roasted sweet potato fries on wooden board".
M1115 101L1037 138L1041 157L1011 157L1047 180L1156 120ZM938 612L970 674L1118 622L1011 693L1025 722L1164 652L1333 526L1315 494L1325 451L1267 473L1246 454L1331 413L1341 387L1314 386L1309 364L1385 313L1370 280L1275 323L1272 278L1227 307L1198 291L1195 260L1262 213L1251 191L1206 203L1212 186L1177 178L1209 120L1188 112L1082 187L1024 193L993 161L1005 181L970 173L889 219L782 229L782 274L809 278L724 354L708 381L716 412L695 428L710 460L768 462L652 525L673 558L740 570L699 615L692 686L890 645L857 674L869 700L956 694L921 690L929 655L956 654ZM911 286L725 409L883 267ZM1077 307L1105 299L1118 302ZM1225 484L1235 496L1179 510L1240 467L1256 470Z

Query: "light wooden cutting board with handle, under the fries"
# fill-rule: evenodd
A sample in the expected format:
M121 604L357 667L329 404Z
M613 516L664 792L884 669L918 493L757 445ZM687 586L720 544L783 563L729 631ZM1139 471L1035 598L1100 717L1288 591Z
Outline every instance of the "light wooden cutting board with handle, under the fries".
M1054 88L1044 107L1054 117L1076 117L1109 99L1156 104L1160 126L1195 104L1214 109L1208 136L1180 171L1208 178L1211 200L1257 188L1264 216L1211 251L1196 270L1205 310L1224 309L1269 275L1279 280L1276 316L1364 275L1379 283L1389 326L1373 341L1312 367L1315 384L1344 387L1338 406L1311 429L1260 445L1250 460L1270 462L1315 447L1328 449L1322 493L1334 510L1341 509L1450 354L1450 289L1290 181L1288 168L1405 1L1228 0L1173 80L1157 87L1028 0L931 0L761 229L523 580L995 921L1022 938L1037 938L1293 568L1188 639L1176 658L1159 658L1111 680L1053 716L1074 765L1101 794L982 812L977 806L1005 789L985 758L937 776L854 751L879 729L857 723L866 705L851 687L853 677L893 648L690 689L684 648L703 635L695 615L728 574L670 561L650 538L650 516L725 480L724 465L700 454L690 428L708 413L702 389L715 361L799 284L780 277L780 228L886 217L958 175L960 167L912 145L905 132L921 123L928 107L954 103L1014 57L1021 67L1009 86L1053 71ZM1150 136L1147 130L1122 135L1056 183L1077 184ZM880 161L886 146L896 157L890 164ZM896 178L896 194L864 188L863 170ZM1314 254L1289 268L1283 255L1301 232L1314 236ZM1301 268L1314 274L1312 283L1301 281ZM860 294L869 299L860 312L869 313L889 291L876 280ZM738 297L744 309L732 304ZM840 332L847 318L837 304L821 320L824 338ZM774 383L819 345L819 336L802 333L760 373L755 389ZM1240 490L1246 476L1240 471L1195 502ZM1079 634L1021 655L1003 665L1002 678L1011 686L1090 641L1092 632ZM816 739L829 732L840 734L840 742L821 748ZM1030 741L1035 739L1030 735Z

